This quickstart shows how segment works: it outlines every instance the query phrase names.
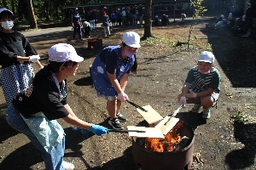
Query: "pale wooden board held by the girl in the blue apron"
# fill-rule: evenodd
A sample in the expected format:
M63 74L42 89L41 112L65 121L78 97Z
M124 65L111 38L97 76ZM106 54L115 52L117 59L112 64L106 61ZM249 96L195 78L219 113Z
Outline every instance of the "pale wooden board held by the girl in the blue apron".
M150 105L145 105L143 106L143 108L147 110L147 112L141 111L139 109L137 109L137 111L144 117L148 124L160 122L160 120L163 119L163 117L160 116L157 111L154 111L154 109Z

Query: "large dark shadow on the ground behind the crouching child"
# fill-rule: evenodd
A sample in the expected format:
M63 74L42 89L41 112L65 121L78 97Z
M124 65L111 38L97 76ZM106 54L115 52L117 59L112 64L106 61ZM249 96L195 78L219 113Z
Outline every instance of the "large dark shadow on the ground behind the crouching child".
M211 20L209 20L211 22ZM230 26L201 28L222 70L234 88L256 88L256 48L253 37L237 37ZM217 37L212 37L215 35ZM229 48L224 43L230 43Z

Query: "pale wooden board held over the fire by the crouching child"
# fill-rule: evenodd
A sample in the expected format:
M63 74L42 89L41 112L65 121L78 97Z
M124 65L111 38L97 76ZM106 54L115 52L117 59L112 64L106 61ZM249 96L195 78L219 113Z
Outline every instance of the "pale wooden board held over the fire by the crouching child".
M177 124L178 121L179 121L179 118L171 117L171 116L166 116L155 127L160 128L161 132L164 135L166 135L172 129L172 127L174 127Z

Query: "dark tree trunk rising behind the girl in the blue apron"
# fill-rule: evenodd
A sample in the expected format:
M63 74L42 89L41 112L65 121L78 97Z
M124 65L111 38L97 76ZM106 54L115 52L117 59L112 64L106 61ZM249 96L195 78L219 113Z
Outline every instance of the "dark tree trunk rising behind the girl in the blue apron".
M152 37L152 0L146 0L145 3L145 16L144 16L144 36L143 39Z

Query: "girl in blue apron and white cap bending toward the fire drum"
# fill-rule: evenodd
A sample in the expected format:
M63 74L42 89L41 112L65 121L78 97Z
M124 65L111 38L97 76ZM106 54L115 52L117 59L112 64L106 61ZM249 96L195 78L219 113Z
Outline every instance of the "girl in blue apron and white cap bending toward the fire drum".
M114 129L122 129L126 117L119 113L121 102L128 99L125 87L130 71L137 74L137 48L140 48L140 37L134 31L123 35L120 45L103 48L96 56L91 74L98 97L107 99L107 110L110 116L108 124Z

